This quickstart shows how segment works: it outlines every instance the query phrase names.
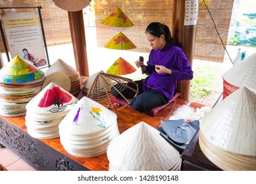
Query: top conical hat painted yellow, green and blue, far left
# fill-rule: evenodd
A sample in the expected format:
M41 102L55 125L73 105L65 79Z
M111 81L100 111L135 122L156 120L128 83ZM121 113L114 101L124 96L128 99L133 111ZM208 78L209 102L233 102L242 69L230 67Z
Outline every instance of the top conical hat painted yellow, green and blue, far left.
M43 77L43 71L18 56L0 70L0 83L23 84Z

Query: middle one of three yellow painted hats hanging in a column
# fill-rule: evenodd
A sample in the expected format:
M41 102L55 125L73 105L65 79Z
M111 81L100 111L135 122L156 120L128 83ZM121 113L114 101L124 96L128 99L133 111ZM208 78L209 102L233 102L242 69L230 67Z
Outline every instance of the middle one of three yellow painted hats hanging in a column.
M122 32L119 32L115 35L106 45L107 49L118 49L118 50L127 50L135 49L136 45L126 37Z

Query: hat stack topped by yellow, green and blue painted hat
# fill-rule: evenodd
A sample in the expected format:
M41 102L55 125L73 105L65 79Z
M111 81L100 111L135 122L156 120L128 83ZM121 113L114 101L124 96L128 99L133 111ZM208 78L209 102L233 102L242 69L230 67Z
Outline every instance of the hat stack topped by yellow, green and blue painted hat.
M26 114L26 104L40 91L44 72L16 56L0 70L0 115Z

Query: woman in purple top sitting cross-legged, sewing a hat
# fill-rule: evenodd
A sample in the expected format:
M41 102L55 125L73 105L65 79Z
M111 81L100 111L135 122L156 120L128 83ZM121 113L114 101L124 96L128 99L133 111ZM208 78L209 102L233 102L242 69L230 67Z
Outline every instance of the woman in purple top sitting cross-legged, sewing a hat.
M193 71L184 51L174 45L170 30L165 24L152 22L145 30L145 36L152 47L147 66L143 61L135 64L147 74L140 84L139 94L132 99L130 106L139 112L147 112L172 100L179 80L192 80ZM129 89L122 91L124 97L132 97ZM116 97L121 98L120 95Z

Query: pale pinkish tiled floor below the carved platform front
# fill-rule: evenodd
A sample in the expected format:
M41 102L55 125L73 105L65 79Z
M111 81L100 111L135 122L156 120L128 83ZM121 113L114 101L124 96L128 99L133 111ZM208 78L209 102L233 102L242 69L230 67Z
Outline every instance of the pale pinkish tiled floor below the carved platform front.
M35 171L29 164L7 148L0 149L0 164L8 171Z

